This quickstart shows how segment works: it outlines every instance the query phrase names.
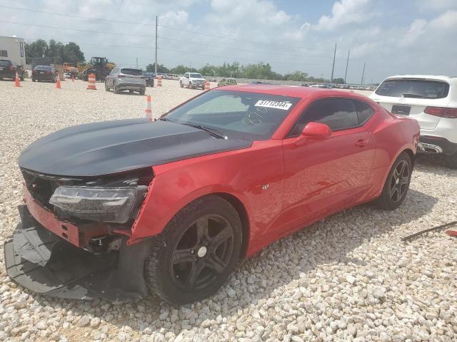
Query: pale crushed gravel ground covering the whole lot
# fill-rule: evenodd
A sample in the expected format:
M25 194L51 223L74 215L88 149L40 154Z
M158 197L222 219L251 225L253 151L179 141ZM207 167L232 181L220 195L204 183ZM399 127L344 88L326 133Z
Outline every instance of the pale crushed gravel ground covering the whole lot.
M401 208L359 206L281 239L196 304L64 301L18 287L2 249L19 221L21 150L69 125L144 115L144 97L97 87L0 81L0 341L457 341L457 239L400 242L457 220L457 172L436 158L418 160ZM167 80L147 89L154 115L200 91Z

